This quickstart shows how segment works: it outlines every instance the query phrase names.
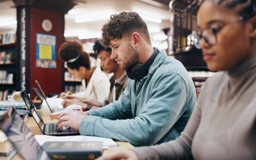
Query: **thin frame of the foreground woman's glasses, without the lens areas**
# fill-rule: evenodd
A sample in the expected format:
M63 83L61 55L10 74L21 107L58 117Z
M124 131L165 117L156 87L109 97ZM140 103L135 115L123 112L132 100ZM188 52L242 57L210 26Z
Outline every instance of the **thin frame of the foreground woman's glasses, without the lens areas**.
M239 19L236 19L236 20L231 20L231 21L229 21L229 22L223 22L222 24L219 24L219 25L214 24L214 25L212 25L212 26L209 26L209 27L207 27L207 28L205 28L205 29L202 29L202 33L197 32L197 33L191 34L191 35L190 35L191 42L193 42L193 44L196 44L196 45L195 45L196 48L201 49L199 43L200 43L200 40L201 40L202 38L204 38L205 42L206 42L207 44L209 44L209 45L212 46L212 45L214 45L214 44L217 43L217 33L218 33L218 31L217 31L216 28L217 28L218 26L223 27L223 26L225 26L225 25L227 25L227 24L231 24L231 23L234 23L234 22L239 22L239 21L243 21L243 20L248 20L248 19L254 17L255 15L256 15L256 13L254 13L254 14L252 14L252 15L245 15L244 17L241 16L241 17L239 17ZM204 31L205 31L206 29L211 29L211 32L212 32L212 34L214 35L214 38L215 38L214 44L210 44L210 43L209 43L209 40L207 40L207 38L205 38L205 36L204 36ZM196 36L196 38L191 38L191 36L194 36L194 37ZM197 38L197 37L198 37L198 38ZM197 42L195 42L195 40L196 40Z

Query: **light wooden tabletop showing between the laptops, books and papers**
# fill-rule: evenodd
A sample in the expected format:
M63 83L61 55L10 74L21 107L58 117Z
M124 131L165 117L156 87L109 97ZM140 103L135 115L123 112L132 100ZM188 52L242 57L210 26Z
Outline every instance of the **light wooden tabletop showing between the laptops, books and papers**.
M45 123L56 123L57 120L51 120L51 111L50 110L42 110L42 109L38 109L38 112L40 113L40 115L42 116L43 120ZM27 127L29 128L29 130L34 134L42 134L42 132L40 131L38 125L36 124L34 118L32 116L29 116L27 122L26 122ZM108 149L104 149L103 154L106 154L109 152L109 149L111 148L134 148L131 143L129 142L124 142L124 141L116 141L118 143L118 147L109 147ZM1 157L2 158L2 157ZM13 157L13 159L17 160L17 159L22 159L19 154L17 154L15 157Z

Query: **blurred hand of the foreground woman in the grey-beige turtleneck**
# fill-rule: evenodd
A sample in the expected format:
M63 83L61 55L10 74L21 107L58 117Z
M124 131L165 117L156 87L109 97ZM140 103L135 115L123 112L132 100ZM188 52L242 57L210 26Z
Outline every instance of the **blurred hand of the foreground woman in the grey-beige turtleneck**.
M113 148L108 154L104 154L95 160L117 160L117 159L126 159L126 160L139 160L139 157L133 150Z

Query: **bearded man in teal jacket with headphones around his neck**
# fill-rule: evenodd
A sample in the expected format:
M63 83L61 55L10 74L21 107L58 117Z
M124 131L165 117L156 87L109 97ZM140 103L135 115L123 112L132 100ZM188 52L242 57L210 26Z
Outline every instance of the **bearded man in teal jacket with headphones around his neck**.
M102 27L100 42L112 48L111 58L128 75L138 69L134 65L151 61L150 66L141 79L137 74L130 76L135 78L117 101L85 113L64 113L58 118L58 128L68 125L83 135L129 141L135 146L178 138L196 104L195 86L182 63L152 47L147 25L136 12L111 15Z

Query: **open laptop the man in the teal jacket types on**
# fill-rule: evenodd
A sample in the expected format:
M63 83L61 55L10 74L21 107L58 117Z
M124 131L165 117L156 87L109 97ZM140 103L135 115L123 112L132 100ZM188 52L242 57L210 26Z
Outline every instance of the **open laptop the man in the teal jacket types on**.
M36 121L36 124L40 128L43 134L46 135L54 135L54 136L67 136L67 135L74 135L79 134L79 130L74 129L72 127L63 126L60 129L57 129L58 123L46 123L44 122L42 116L35 108L35 104L32 102L26 90L20 92L22 99L24 100L26 106L28 107L31 115Z

